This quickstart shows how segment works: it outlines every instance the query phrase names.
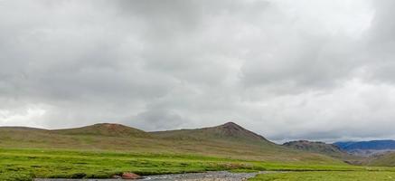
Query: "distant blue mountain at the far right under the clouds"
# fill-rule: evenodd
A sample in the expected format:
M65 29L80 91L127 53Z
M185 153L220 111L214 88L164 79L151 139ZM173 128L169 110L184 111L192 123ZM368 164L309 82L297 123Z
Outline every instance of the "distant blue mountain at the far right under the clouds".
M371 140L371 141L348 141L335 142L334 145L348 153L360 156L371 156L395 150L395 140Z

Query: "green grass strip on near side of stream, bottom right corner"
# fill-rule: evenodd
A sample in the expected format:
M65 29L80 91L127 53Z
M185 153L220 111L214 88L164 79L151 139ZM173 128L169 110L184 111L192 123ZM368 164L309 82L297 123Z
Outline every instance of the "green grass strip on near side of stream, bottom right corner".
M393 181L395 172L389 171L324 171L261 174L249 181Z

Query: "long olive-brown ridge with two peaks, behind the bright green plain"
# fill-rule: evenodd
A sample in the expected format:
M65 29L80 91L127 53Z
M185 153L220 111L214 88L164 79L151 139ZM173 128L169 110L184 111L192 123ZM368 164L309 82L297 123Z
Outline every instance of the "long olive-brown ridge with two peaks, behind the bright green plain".
M145 132L100 123L74 129L0 127L0 148L66 148L173 153L287 163L339 164L324 155L283 147L233 122L203 129Z

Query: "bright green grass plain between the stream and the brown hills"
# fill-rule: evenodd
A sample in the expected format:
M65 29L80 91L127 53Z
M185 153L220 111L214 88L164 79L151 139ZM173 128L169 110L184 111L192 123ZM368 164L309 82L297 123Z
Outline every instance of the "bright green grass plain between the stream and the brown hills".
M31 180L33 177L108 178L123 172L156 175L215 170L249 172L258 170L378 171L390 169L386 167L353 167L343 164L285 164L187 154L0 148L0 180Z

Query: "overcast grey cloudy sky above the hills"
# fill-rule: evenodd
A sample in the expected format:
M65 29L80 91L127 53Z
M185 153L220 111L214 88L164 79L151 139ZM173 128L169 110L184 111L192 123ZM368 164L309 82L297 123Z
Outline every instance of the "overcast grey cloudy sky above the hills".
M0 126L395 138L395 1L0 0Z

